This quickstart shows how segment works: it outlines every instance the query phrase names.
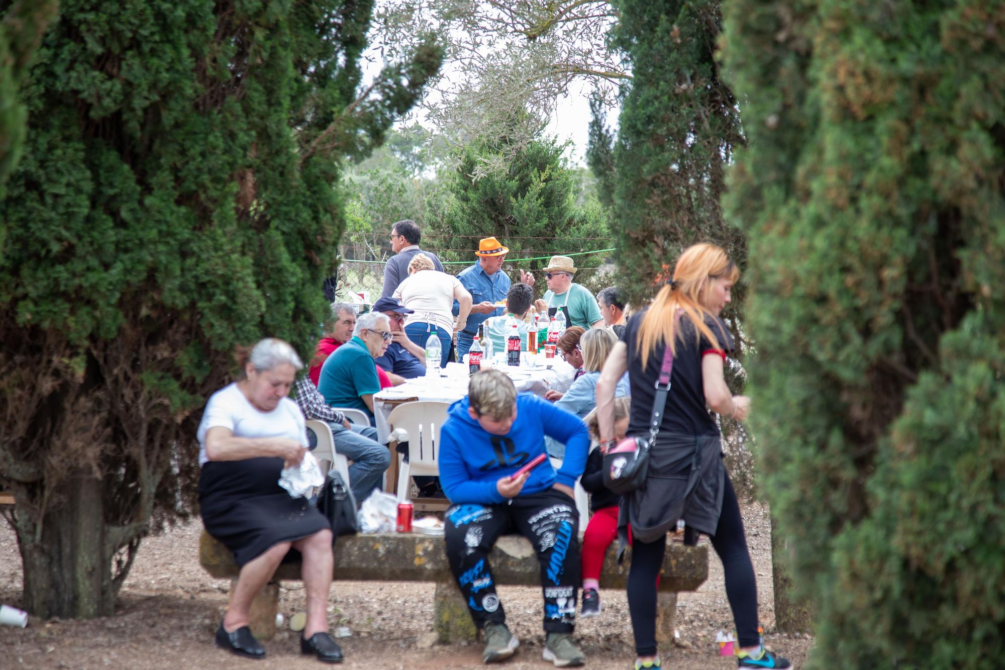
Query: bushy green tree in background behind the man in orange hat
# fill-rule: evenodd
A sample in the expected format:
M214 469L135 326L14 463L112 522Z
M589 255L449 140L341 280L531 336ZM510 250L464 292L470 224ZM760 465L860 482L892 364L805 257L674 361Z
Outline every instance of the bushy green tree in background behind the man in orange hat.
M430 213L435 250L443 261L474 263L481 237L495 236L510 248L508 266L529 272L547 261L519 259L578 254L609 248L607 219L596 199L576 203L581 176L563 158L565 148L552 140L535 140L512 152L480 140L459 150L456 168L444 181L450 197L444 209ZM575 257L576 281L596 291L597 269L604 254ZM539 293L544 276L539 273Z

